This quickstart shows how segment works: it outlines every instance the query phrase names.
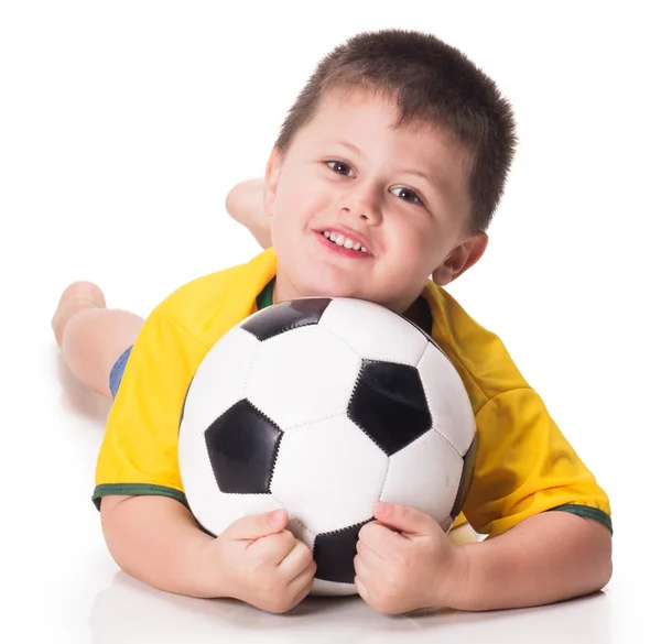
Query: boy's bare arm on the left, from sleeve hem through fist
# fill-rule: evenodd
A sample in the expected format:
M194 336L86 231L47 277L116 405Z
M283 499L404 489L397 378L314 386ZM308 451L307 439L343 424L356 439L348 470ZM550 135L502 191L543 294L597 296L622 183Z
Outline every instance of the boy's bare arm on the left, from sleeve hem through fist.
M285 530L284 510L243 516L218 537L199 530L191 512L165 496L105 496L101 525L117 564L167 592L231 597L285 612L312 588L311 549Z

